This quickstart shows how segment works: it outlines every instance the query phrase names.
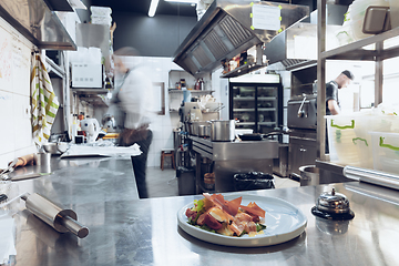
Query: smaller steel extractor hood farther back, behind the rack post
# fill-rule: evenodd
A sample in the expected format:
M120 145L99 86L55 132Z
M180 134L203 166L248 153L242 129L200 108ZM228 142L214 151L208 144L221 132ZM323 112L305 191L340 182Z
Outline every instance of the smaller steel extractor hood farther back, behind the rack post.
M335 31L344 23L347 6L327 4L327 45L334 47ZM310 13L310 23L299 22L285 30L264 50L268 70L295 70L316 64L317 60L317 10Z

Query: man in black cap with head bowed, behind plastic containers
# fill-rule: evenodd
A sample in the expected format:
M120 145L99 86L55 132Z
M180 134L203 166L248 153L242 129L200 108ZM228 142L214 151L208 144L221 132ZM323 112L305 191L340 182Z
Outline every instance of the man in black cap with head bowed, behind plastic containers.
M326 84L326 114L336 115L340 112L338 101L338 89L342 89L349 85L355 79L355 75L349 70L342 71L335 80Z

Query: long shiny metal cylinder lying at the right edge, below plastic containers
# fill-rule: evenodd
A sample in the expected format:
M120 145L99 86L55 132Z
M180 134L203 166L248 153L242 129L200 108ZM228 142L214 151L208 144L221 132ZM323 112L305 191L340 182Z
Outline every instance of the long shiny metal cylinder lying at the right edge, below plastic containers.
M345 166L344 175L348 178L399 190L399 176L376 170Z

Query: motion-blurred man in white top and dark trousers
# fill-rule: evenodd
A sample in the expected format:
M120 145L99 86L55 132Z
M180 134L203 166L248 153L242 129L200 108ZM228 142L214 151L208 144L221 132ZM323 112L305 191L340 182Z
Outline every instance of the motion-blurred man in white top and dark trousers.
M123 115L117 120L123 122L120 134L120 145L140 145L142 154L132 156L132 164L140 198L147 198L145 182L146 161L153 133L149 129L154 111L152 82L140 70L139 52L134 48L121 48L113 53L115 69L115 90L112 101Z

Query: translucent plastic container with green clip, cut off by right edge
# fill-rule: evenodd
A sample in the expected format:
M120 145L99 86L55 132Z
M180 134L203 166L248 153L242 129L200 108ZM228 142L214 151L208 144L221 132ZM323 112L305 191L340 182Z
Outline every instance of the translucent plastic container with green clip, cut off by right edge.
M374 168L399 174L399 133L369 133L372 139Z

